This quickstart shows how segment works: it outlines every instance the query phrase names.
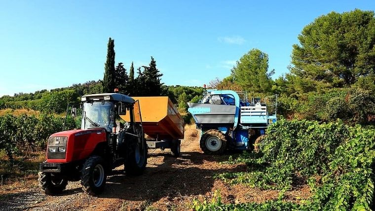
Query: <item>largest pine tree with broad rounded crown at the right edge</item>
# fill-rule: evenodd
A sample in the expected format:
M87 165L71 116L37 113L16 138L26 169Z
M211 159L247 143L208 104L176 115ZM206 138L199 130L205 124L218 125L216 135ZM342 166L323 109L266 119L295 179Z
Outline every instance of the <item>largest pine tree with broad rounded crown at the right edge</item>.
M305 26L293 45L291 72L333 87L375 73L375 16L356 9L331 12Z

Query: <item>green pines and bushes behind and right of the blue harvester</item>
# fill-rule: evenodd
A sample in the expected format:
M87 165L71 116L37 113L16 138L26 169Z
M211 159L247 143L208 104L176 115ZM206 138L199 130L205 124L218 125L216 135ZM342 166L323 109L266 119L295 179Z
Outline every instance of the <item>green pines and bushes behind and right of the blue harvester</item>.
M330 12L306 25L293 45L289 72L272 79L268 54L252 49L215 79L218 89L250 96L278 94L287 118L375 123L375 14L355 9Z

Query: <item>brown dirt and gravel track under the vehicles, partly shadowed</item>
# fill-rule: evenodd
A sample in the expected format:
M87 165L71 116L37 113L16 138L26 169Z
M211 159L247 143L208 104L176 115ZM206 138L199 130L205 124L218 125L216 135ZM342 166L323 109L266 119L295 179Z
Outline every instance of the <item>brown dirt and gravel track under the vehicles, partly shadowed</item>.
M0 192L0 210L191 210L194 199L211 198L219 190L225 203L262 202L278 197L278 191L259 190L246 185L228 185L213 176L222 172L244 171L245 165L221 164L229 155L204 155L199 149L197 131L186 130L182 153L173 158L167 150L150 150L145 174L125 176L121 168L107 179L106 191L98 197L84 194L79 182L70 182L60 196L45 196L35 178ZM6 188L5 188L6 189ZM287 192L290 200L306 198L309 190Z

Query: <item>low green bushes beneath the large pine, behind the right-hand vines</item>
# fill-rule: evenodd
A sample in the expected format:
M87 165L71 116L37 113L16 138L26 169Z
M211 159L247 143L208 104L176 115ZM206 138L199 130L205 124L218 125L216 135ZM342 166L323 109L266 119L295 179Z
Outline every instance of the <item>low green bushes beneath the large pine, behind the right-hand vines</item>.
M278 101L279 114L288 118L324 122L339 118L352 125L370 125L375 121L375 95L361 88L332 88L324 93L303 94L300 100L281 96Z

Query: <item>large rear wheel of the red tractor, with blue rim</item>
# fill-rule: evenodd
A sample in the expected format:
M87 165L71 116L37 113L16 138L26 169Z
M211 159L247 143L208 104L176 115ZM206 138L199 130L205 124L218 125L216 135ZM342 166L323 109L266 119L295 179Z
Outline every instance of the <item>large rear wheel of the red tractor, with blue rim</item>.
M142 175L147 164L147 143L146 139L142 142L134 139L128 143L128 155L125 161L125 172L130 176Z

